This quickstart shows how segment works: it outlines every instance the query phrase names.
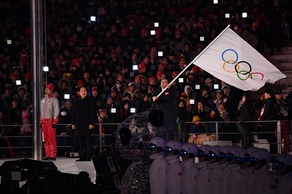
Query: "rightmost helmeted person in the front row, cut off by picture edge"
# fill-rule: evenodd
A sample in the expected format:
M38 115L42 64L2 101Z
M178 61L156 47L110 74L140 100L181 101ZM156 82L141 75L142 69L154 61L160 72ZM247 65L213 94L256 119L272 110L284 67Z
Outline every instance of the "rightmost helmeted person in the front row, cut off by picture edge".
M282 153L274 163L277 174L277 194L292 192L292 152Z

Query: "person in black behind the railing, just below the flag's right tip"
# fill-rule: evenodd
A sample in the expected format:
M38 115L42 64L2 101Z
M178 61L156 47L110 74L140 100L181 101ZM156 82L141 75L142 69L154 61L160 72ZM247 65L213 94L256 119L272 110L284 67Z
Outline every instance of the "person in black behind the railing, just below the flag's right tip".
M276 121L278 120L278 102L273 95L273 90L266 89L264 92L264 106L261 108L259 121ZM276 122L264 122L260 132L269 134L259 134L259 139L266 139L270 144L270 152L277 153L277 141L275 131L277 129Z

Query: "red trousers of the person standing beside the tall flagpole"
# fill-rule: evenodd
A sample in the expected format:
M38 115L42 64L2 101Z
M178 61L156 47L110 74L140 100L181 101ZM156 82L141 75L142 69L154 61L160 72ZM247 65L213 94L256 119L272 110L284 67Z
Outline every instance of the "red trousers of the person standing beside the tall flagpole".
M56 158L57 156L56 128L52 129L52 125L52 123L41 124L46 157L48 158Z

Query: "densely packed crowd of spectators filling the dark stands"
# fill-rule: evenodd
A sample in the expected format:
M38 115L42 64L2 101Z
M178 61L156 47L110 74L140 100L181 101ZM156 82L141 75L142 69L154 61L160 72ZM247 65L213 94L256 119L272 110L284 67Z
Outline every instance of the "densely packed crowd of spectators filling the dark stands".
M77 88L85 86L96 113L119 123L149 110L148 98L160 80L173 80L228 24L260 53L266 45L271 54L274 48L279 51L288 37L291 7L290 1L276 0L46 1L41 22L43 65L49 70L43 72L43 85L53 83L66 114L71 114ZM4 1L0 10L0 109L10 124L23 124L22 113L31 113L33 106L30 1ZM174 82L179 120L236 120L242 91L196 65L180 78ZM9 134L19 135L19 129ZM206 129L214 132L214 126Z

